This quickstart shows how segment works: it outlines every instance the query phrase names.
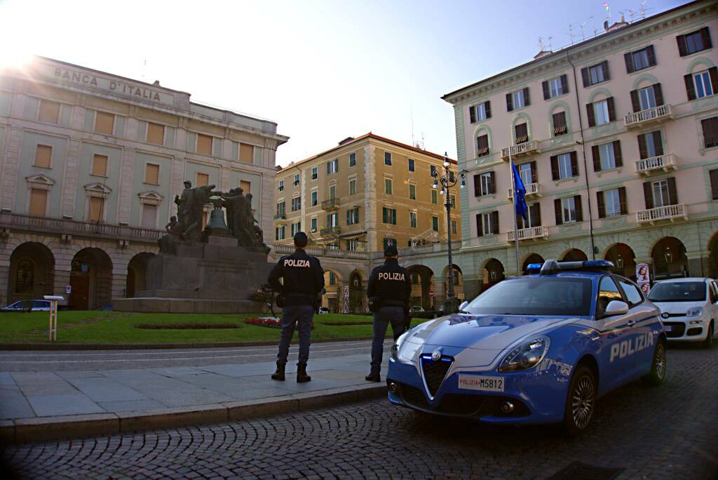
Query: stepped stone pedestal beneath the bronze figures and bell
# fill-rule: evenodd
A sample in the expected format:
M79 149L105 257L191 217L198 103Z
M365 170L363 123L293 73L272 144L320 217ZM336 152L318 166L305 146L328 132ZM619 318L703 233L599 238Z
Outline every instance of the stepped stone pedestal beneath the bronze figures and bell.
M231 236L208 234L205 243L180 243L177 255L147 261L146 290L116 298L113 310L166 313L258 313L249 300L272 265L264 253L238 246Z

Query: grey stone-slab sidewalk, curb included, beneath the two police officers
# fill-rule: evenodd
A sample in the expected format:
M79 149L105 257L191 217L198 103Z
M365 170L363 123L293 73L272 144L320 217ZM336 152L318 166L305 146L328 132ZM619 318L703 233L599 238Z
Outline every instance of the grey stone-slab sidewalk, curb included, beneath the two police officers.
M4 371L0 372L0 441L214 423L378 397L386 386L365 381L369 358L367 352L310 360L312 382L304 384L295 380L292 356L286 382L269 378L274 361Z

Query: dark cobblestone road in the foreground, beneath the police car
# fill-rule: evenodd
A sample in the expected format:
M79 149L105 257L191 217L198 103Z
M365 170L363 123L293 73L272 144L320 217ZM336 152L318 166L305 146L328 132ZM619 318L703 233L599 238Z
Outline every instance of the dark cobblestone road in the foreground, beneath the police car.
M20 478L542 479L573 461L620 479L718 478L718 347L668 351L669 377L603 397L592 430L495 428L385 400L246 422L12 446ZM5 476L6 478L6 476Z

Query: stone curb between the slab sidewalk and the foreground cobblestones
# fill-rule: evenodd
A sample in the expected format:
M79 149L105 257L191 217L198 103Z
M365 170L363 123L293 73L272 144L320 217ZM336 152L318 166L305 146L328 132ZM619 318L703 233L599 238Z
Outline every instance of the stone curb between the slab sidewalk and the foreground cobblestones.
M0 420L0 445L248 420L374 400L386 391L384 384L368 384L195 407Z

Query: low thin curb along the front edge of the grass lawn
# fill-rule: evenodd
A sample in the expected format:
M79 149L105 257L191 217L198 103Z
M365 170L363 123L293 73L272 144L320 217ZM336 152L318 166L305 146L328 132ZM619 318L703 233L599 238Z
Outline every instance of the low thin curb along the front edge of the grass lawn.
M372 337L320 338L312 343L342 341L365 341ZM0 343L0 351L6 350L155 350L155 349L217 349L238 346L276 346L276 341L233 341L210 343Z

